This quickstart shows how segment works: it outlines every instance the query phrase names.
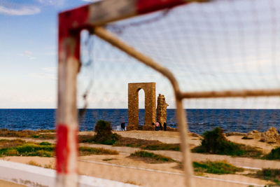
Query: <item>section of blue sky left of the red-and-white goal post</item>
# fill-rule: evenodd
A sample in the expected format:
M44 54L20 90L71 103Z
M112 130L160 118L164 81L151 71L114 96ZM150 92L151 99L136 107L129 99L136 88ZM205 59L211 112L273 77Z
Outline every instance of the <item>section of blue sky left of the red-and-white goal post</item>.
M0 108L56 106L57 13L86 1L0 1Z

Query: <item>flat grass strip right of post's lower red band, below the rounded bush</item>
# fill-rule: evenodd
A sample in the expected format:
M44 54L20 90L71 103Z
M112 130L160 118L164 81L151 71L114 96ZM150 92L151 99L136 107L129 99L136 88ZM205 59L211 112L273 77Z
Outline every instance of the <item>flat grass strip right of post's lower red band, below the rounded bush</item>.
M94 148L82 146L79 147L80 155L118 155L118 151L113 151L106 148Z

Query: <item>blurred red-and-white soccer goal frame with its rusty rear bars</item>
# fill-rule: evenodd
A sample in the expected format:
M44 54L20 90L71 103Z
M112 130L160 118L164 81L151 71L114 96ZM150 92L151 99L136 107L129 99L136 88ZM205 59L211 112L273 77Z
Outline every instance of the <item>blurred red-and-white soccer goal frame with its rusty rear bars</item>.
M77 75L80 69L80 32L87 29L111 45L123 50L160 72L172 84L176 99L176 118L181 137L183 168L186 186L194 186L193 166L188 146L188 126L185 98L207 97L257 97L279 96L280 90L229 90L221 92L181 92L176 77L169 69L162 67L150 57L139 53L116 36L104 29L104 25L145 13L160 11L188 4L194 0L104 0L59 13L58 37L58 99L57 99L57 186L78 186L78 115L77 115ZM205 1L205 0L197 0Z

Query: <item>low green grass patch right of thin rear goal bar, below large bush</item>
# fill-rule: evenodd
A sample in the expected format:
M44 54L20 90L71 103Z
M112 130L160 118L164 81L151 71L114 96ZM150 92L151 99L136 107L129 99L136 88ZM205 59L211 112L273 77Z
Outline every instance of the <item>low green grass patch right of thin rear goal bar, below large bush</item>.
M195 172L204 172L210 174L235 174L236 172L244 172L241 167L235 167L228 162L193 162Z

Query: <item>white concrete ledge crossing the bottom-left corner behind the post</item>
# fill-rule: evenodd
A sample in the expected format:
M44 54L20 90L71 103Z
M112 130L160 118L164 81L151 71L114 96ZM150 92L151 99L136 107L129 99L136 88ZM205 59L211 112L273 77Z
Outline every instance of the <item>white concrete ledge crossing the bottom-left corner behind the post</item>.
M0 179L4 181L13 181L27 186L55 186L56 172L54 169L0 160L0 173ZM93 176L80 175L79 178L80 187L136 186Z

